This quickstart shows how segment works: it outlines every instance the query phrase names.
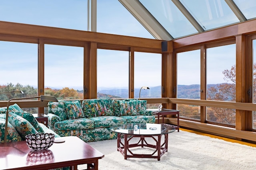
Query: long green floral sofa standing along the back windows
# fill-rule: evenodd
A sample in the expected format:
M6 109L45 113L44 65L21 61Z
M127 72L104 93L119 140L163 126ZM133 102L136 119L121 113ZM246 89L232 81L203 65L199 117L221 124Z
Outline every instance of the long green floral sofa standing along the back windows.
M113 125L155 123L146 100L88 99L48 103L49 128L60 136L78 136L85 142L115 139Z

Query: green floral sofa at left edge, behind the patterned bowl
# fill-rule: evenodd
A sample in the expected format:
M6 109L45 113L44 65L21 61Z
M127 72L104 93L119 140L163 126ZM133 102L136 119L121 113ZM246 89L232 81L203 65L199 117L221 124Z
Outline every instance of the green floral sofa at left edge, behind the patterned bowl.
M0 142L4 143L4 129L6 122L6 107L0 107ZM44 124L38 123L31 113L24 112L17 104L9 106L8 128L6 142L23 141L31 133L53 133Z

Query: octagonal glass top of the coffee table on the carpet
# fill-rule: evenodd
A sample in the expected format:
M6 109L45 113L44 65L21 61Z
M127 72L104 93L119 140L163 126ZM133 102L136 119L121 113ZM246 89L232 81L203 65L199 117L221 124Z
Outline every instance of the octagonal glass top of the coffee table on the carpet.
M130 135L162 135L172 133L176 129L167 124L155 123L127 123L110 127L111 131Z

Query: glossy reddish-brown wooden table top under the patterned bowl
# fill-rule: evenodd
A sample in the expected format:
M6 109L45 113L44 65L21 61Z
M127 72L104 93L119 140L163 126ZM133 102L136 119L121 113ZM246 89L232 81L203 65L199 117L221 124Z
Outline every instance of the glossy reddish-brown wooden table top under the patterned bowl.
M58 137L64 143L54 143L47 151L32 152L26 141L0 143L0 170L48 168L71 164L83 164L98 160L104 154L94 149L78 137Z

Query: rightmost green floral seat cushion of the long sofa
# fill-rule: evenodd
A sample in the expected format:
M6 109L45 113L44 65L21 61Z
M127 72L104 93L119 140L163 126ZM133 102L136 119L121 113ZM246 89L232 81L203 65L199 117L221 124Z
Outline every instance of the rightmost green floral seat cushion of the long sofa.
M156 118L154 116L135 115L135 116L121 116L126 119L127 123L155 123Z

